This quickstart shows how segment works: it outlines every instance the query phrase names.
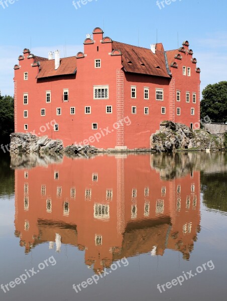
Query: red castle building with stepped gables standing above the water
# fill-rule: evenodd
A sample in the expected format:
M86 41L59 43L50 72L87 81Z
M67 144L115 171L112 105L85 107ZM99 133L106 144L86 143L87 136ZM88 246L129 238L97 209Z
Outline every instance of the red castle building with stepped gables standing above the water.
M15 132L99 148L150 147L163 120L200 119L200 69L188 41L165 51L112 41L95 28L84 52L48 58L24 49L15 65Z

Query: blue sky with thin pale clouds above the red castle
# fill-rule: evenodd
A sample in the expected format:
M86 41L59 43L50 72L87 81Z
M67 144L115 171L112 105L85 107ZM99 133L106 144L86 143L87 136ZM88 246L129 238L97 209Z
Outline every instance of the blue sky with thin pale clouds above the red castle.
M12 3L10 4L9 1ZM14 93L14 65L24 48L47 57L61 50L67 56L83 50L86 34L95 27L112 40L165 50L188 40L201 69L201 88L227 80L227 2L225 0L0 0L0 90ZM13 3L14 2L14 3ZM86 4L85 4L86 3ZM164 6L164 7L163 7ZM160 9L161 8L161 9ZM31 47L32 40L32 47Z

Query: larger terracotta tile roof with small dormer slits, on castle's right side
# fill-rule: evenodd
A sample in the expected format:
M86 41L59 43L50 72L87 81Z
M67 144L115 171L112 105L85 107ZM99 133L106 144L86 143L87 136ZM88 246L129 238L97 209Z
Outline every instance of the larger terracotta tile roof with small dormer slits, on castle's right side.
M122 52L122 65L126 72L170 77L166 70L163 46L157 44L156 54L151 49L112 42L113 49Z

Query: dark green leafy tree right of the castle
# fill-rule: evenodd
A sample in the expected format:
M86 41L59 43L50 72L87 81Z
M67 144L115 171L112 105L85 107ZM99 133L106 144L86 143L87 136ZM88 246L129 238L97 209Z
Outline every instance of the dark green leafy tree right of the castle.
M201 118L209 116L212 122L227 122L227 81L207 85L202 91Z

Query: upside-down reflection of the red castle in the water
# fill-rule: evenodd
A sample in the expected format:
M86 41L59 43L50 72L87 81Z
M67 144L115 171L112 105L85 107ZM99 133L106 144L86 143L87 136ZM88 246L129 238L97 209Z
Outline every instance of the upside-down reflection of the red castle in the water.
M20 245L26 253L44 242L57 251L61 244L77 246L94 270L124 256L163 255L167 248L189 259L199 231L200 173L161 180L151 168L157 158L64 157L62 164L16 170Z

